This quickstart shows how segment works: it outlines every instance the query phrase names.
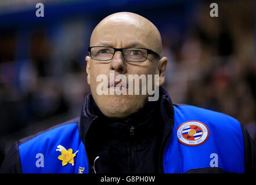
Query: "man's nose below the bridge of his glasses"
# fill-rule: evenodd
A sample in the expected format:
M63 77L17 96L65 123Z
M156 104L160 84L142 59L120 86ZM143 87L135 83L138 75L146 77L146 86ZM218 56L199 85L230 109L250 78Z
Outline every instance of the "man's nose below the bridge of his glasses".
M127 68L121 51L116 51L114 54L114 57L110 63L110 70L114 70L118 73L127 73Z

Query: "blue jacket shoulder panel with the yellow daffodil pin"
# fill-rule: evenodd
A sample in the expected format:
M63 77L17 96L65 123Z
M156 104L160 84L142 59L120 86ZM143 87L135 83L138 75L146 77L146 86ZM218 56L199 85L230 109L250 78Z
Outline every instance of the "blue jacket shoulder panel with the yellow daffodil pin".
M85 147L81 142L77 123L49 129L22 143L19 152L23 173L74 173L78 172L79 167L85 168L84 173L88 171ZM63 157L59 157L62 153ZM65 160L69 162L63 162Z

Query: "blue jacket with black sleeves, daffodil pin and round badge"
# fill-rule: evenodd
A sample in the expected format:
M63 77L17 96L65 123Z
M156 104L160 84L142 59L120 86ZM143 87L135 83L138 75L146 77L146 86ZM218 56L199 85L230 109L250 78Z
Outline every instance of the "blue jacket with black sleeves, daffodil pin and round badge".
M255 172L255 143L226 114L172 104L161 87L160 113L170 133L163 151L164 173ZM86 114L15 142L1 172L89 173L84 138L97 117Z

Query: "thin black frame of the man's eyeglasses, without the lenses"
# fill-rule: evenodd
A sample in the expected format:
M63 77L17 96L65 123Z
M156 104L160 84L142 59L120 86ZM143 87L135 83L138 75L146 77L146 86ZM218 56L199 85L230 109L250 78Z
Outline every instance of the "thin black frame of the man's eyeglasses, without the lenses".
M91 57L93 60L99 60L99 59L95 59L95 58L93 58L93 57L91 56L91 49L92 49L93 47L107 47L107 46L91 46L91 47L88 47L88 52L89 52L89 54L90 54L90 57ZM112 58L109 59L109 60L112 60L112 59L113 59L113 57L114 57L116 51L121 51L121 53L122 53L122 50L124 50L124 49L145 49L145 50L147 50L147 56L148 56L149 54L152 54L154 57L156 57L156 58L158 58L158 59L161 59L160 55L157 54L155 51L150 50L150 49L146 49L146 48L143 48L143 47L125 47L125 48L107 47L107 48L114 49L113 56L112 56ZM124 53L122 53L122 57L123 57L124 60L125 60ZM99 61L109 61L109 60L99 60ZM144 62L144 61L146 61L146 60L147 60L147 57L146 57L146 59L143 60L143 61L128 61L128 60L125 60L125 61L128 61L128 62Z

